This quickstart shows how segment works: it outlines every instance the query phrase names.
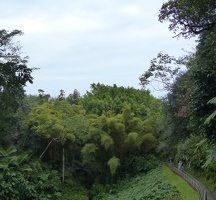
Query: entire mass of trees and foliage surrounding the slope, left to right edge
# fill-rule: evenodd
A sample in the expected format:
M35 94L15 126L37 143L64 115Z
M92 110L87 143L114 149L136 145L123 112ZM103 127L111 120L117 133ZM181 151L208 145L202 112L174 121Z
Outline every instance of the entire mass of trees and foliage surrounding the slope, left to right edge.
M28 58L0 31L0 197L92 199L112 184L147 173L174 157L215 185L216 3L164 3L159 21L174 37L196 36L194 52L159 52L140 77L143 89L92 83L91 90L51 97L33 83ZM159 81L157 99L145 90Z

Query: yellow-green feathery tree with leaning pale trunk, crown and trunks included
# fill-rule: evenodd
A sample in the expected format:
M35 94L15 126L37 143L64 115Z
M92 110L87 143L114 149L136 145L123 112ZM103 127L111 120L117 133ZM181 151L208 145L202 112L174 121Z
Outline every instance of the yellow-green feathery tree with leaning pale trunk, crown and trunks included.
M62 169L63 182L66 166L74 168L74 154L80 150L81 147L77 147L88 127L84 114L80 105L54 100L35 106L24 120L24 148L34 145L34 155L38 160L52 163L57 170ZM79 156L80 152L77 154Z

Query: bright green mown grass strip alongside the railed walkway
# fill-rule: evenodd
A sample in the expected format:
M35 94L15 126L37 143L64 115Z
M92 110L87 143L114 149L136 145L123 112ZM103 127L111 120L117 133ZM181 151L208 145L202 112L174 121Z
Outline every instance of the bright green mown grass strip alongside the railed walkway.
M171 185L177 188L177 190L181 193L181 197L183 200L200 199L197 191L184 179L171 171L166 165L162 166L162 174L167 178Z

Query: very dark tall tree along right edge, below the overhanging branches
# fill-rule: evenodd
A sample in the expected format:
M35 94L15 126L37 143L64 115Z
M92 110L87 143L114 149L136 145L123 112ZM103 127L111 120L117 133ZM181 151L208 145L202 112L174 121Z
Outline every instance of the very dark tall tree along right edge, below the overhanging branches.
M207 134L209 138L216 138L215 119L204 126L206 118L214 111L214 105L208 101L216 97L216 28L205 32L200 36L197 46L196 62L193 69L196 83L193 98L193 122L194 127L199 127L199 132Z

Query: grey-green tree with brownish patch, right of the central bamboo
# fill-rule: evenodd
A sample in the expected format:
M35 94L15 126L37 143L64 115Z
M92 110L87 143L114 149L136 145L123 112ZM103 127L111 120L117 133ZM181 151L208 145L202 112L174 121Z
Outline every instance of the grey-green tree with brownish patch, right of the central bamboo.
M192 132L190 114L194 87L189 70L177 77L171 91L163 99L163 114L158 123L157 137L158 151L163 152L164 156L174 156L176 144L187 139Z

